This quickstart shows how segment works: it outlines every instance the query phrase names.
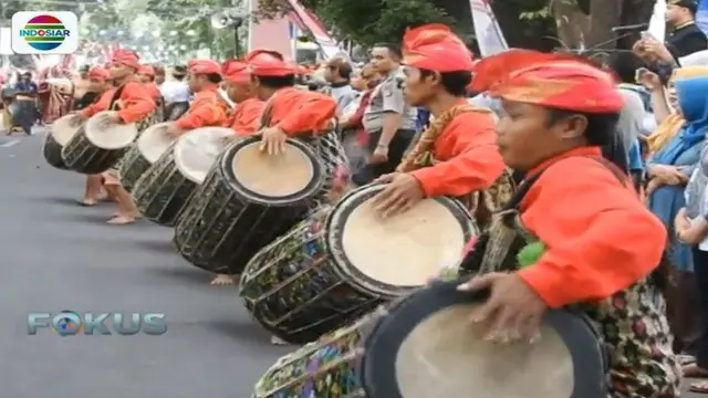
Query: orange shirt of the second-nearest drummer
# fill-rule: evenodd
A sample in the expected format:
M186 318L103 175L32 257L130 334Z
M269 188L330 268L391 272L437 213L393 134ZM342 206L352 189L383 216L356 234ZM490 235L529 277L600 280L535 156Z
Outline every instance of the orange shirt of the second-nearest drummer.
M434 157L440 163L412 172L426 197L487 189L504 169L494 121L478 112L459 114L445 127L434 144Z

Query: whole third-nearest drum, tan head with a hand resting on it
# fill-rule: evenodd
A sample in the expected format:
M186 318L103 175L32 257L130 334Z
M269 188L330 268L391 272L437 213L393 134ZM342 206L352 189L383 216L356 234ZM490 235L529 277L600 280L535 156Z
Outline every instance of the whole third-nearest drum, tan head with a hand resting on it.
M191 264L238 274L261 248L302 221L323 192L324 166L289 139L269 156L258 138L229 146L175 226L175 244Z

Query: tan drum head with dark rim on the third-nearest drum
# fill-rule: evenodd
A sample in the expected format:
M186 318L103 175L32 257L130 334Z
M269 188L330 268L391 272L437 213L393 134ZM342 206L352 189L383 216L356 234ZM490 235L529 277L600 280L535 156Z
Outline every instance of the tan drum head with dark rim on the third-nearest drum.
M289 139L279 156L260 150L259 138L240 142L225 157L222 167L235 188L252 201L269 206L308 198L322 187L322 166L304 144Z

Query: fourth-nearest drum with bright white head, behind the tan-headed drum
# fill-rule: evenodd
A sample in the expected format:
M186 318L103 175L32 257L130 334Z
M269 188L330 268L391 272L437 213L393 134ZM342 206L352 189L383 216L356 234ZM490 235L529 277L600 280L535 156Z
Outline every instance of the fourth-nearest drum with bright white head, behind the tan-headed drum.
M201 127L179 137L133 187L140 214L157 224L174 226L177 214L235 135L230 128Z

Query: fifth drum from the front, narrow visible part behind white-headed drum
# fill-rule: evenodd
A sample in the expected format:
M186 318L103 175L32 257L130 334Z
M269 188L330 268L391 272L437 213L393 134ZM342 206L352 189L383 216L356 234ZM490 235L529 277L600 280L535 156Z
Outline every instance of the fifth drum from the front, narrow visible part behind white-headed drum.
M148 127L125 154L118 168L121 185L128 192L145 171L163 156L177 137L167 132L168 123Z

